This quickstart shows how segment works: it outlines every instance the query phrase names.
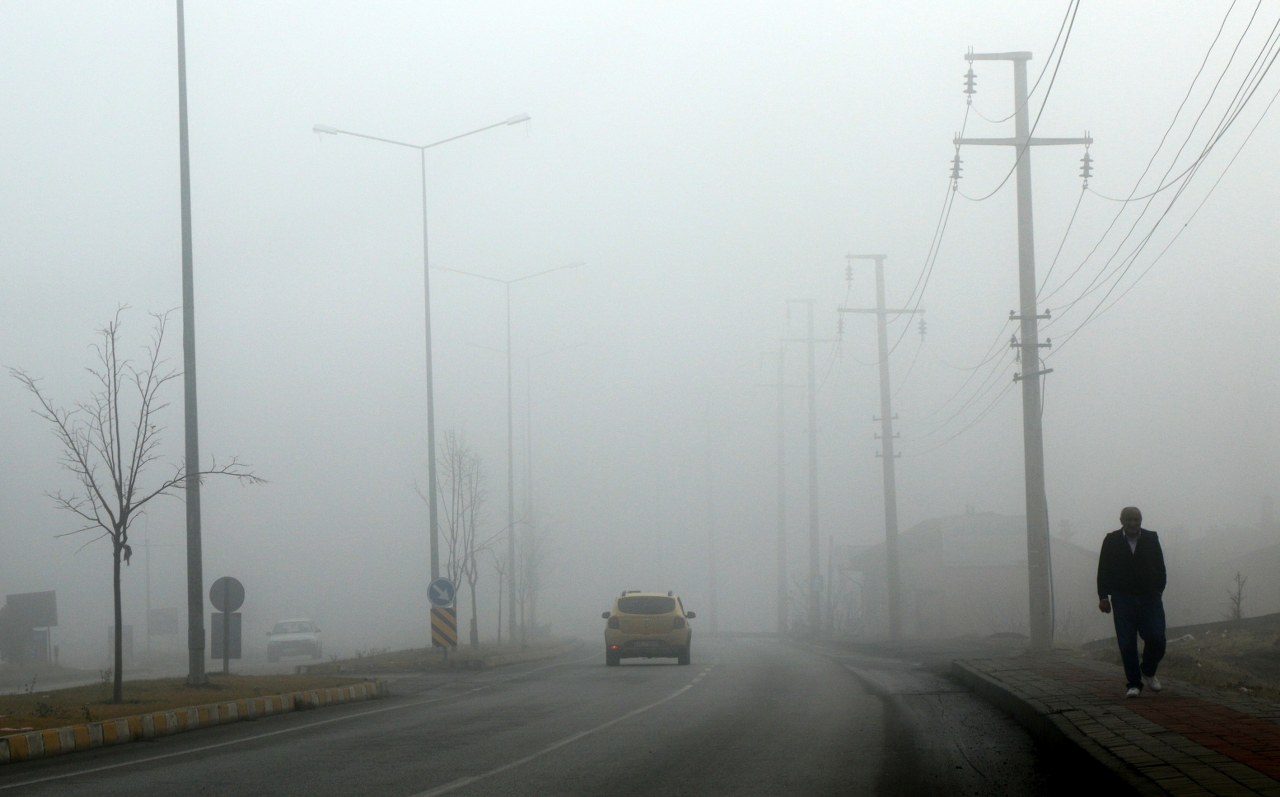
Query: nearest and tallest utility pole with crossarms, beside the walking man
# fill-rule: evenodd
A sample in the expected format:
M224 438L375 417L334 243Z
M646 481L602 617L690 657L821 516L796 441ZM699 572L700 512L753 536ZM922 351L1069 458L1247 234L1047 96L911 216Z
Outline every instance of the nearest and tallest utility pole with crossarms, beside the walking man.
M1053 643L1053 587L1050 563L1048 499L1044 491L1044 436L1041 417L1041 377L1052 368L1041 367L1039 319L1036 307L1036 237L1032 220L1032 147L1091 145L1084 138L1032 138L1027 110L1027 61L1030 52L969 52L966 93L973 93L973 61L1012 61L1015 134L1012 138L955 138L955 175L959 177L960 145L1015 147L1018 164L1018 280L1019 311L1010 313L1021 325L1019 362L1014 376L1023 386L1023 459L1027 480L1027 580L1030 606L1030 646L1047 649Z

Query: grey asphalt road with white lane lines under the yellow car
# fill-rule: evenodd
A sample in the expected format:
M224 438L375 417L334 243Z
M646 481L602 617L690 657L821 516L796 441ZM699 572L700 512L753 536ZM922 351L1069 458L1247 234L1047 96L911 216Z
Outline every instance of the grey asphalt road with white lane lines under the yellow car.
M0 768L0 794L1043 794L1004 715L901 660L698 638L694 663L553 661Z

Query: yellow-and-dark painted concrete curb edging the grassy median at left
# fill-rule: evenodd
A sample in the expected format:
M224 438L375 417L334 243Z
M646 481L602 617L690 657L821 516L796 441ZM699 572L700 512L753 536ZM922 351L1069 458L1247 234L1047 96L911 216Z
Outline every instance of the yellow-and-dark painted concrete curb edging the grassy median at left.
M366 681L353 686L306 690L268 697L244 697L242 700L137 714L134 716L82 723L64 728L27 730L24 733L0 737L0 765L29 761L32 759L47 759L93 747L154 739L161 736L252 720L273 714L305 711L357 700L372 700L385 695L387 687L383 682Z

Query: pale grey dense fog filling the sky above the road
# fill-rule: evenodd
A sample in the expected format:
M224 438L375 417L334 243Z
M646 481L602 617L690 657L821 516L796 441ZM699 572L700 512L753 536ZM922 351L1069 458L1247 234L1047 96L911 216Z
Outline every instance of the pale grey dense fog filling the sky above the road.
M822 567L883 541L876 321L838 312L874 307L874 266L850 253L886 255L887 304L925 311L888 325L905 544L1023 516L1015 152L960 147L950 179L956 136L1014 134L1012 67L974 61L969 106L970 49L1030 51L1034 134L1093 138L1088 189L1083 146L1030 154L1051 528L1092 551L1134 504L1188 573L1196 541L1253 541L1280 472L1280 82L1252 65L1271 22L1229 6L188 0L200 448L268 480L206 480L205 590L244 585L255 655L283 617L333 655L429 640L422 171L316 124L425 145L531 118L425 155L436 446L480 457L504 554L509 353L517 531L545 550L530 624L595 635L617 591L660 588L701 627L776 628L780 353L808 577L806 302ZM174 4L0 15L0 365L72 407L120 304L137 352L178 308L182 365ZM180 381L166 398L177 463ZM55 590L54 643L105 665L110 546L59 536L78 525L46 493L76 485L33 408L5 372L0 594ZM131 544L134 650L179 651L142 626L186 617L180 498ZM492 569L479 590L493 638Z

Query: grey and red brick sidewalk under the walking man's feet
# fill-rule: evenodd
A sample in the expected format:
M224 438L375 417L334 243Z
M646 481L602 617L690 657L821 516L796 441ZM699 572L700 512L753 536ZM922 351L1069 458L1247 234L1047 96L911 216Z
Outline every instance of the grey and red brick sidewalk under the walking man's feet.
M1059 654L957 660L952 673L1135 793L1280 797L1280 705L1164 678L1158 695L1126 698L1119 665Z

